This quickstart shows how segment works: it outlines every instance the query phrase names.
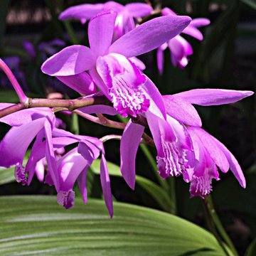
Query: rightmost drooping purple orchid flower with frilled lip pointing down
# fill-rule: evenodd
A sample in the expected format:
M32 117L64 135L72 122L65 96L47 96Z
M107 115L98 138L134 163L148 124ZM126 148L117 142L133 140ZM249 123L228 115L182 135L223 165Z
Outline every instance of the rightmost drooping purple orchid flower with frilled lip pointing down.
M240 186L245 188L245 176L238 161L218 139L199 127L188 127L188 132L196 155L196 166L193 170L189 190L191 197L201 196L201 198L205 198L208 196L212 191L212 179L215 178L216 181L220 179L217 166L224 173L230 169Z

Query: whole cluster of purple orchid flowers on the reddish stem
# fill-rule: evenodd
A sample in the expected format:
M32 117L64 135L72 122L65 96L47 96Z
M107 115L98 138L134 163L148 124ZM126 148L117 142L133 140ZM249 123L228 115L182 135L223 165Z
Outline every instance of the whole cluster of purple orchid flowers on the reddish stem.
M169 47L172 62L183 68L193 50L180 33L202 40L203 36L197 27L206 26L209 21L206 18L191 20L188 16L178 16L165 8L160 17L143 22L143 18L152 12L154 10L149 4L122 6L109 1L105 4L73 6L60 14L60 19L78 18L82 23L90 20L90 48L68 46L48 58L41 70L58 78L82 97L71 100L71 108L70 105L60 108L59 102L58 105L53 102L47 107L47 102L43 103L43 100L35 105L36 100L33 102L33 99L23 95L15 83L22 107L18 112L10 112L14 105L0 105L0 122L11 126L0 143L0 166L15 165L18 182L29 185L36 173L40 181L55 186L58 203L71 208L75 200L75 181L86 203L87 170L92 161L101 157L102 192L112 216L110 176L103 144L107 139L116 139L118 136L97 139L65 131L65 125L54 113L59 109L77 108L75 112L82 117L92 122L101 119L102 124L104 114L129 117L129 122L121 125L124 132L119 138L120 170L132 189L135 186L135 158L139 144L152 143L153 140L161 178L182 175L184 181L191 183L191 196L207 196L212 190L213 178L219 180L218 169L224 173L230 169L245 188L245 177L238 161L221 142L201 128L201 118L193 105L229 104L253 92L197 89L161 95L156 85L142 73L145 65L137 56L157 49L159 71L162 73L163 50ZM86 104L81 107L80 103L78 108L74 102ZM97 117L92 114L97 114ZM118 124L112 121L112 127L120 128ZM145 128L149 128L153 140L144 132ZM23 166L31 142L31 154L26 166ZM66 153L65 146L70 144L77 146Z

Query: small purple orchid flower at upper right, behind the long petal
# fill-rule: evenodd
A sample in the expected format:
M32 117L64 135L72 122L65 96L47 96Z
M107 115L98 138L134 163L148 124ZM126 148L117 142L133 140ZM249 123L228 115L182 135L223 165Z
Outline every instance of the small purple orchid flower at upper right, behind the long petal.
M176 16L177 14L166 7L162 10L162 15ZM193 18L191 23L184 28L182 33L186 33L187 35L202 41L203 34L198 30L198 27L207 26L208 24L210 24L208 18ZM162 44L157 49L157 66L161 75L164 72L164 50L166 50L167 47L169 47L171 52L171 62L174 67L185 68L186 65L188 65L188 56L193 54L192 46L185 38L180 35L171 38L171 40Z

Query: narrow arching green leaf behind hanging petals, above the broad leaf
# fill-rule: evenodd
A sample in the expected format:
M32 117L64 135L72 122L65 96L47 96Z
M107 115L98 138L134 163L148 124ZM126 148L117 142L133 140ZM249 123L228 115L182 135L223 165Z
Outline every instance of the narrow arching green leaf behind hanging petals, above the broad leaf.
M111 162L107 162L107 166L109 169L110 176L117 176L117 177L122 177L122 174L120 172L119 166L116 164L113 164ZM96 159L92 166L91 166L92 171L94 171L95 174L100 174L100 160ZM144 190L149 193L154 200L159 203L159 206L166 212L171 213L172 209L175 207L173 205L173 202L171 201L171 198L166 191L164 191L161 186L157 185L156 183L149 181L149 179L144 178L142 176L136 176L136 183L144 188Z

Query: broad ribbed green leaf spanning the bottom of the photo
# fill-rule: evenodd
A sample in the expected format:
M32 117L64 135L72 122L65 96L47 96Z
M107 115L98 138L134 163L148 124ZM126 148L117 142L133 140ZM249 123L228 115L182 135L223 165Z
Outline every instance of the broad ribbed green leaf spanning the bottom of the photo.
M225 255L212 234L168 213L78 198L75 208L54 196L0 198L1 255Z

